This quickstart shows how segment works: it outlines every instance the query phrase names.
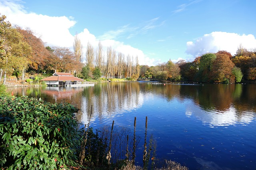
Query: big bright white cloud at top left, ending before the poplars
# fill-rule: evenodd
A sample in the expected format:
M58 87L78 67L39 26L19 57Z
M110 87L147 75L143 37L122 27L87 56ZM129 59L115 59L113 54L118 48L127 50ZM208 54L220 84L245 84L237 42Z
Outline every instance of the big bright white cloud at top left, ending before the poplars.
M18 25L24 29L30 28L48 45L72 46L74 38L69 28L76 24L74 20L66 16L50 17L33 12L28 13L18 2L20 1L0 1L0 11L6 15L12 25Z

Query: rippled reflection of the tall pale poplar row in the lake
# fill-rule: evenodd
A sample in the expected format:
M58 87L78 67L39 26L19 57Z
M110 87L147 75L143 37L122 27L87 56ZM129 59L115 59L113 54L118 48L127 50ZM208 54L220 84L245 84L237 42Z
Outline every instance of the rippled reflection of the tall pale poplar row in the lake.
M90 113L92 120L97 115L100 121L141 107L144 96L138 83L98 83L94 88L82 92L81 110ZM83 114L82 122L87 123L89 114Z

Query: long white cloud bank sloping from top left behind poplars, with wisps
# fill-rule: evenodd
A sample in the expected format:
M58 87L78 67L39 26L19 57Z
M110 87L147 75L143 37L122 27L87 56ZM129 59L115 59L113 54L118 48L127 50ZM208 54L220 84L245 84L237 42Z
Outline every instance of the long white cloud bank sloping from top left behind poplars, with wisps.
M22 1L19 0L0 0L0 12L2 15L6 15L6 20L10 21L12 25L18 25L24 29L30 28L33 30L43 42L46 42L47 45L69 47L70 49L73 49L74 35L70 34L69 29L75 26L76 21L72 16L46 16L28 12L21 3ZM155 18L152 21L150 20L148 25L151 27L143 28L144 31L152 29L152 23L156 20L158 20L158 18ZM134 56L134 58L138 55L140 65L155 65L158 63L155 59L147 57L140 49L125 45L123 42L112 40L123 32L129 32L131 29L132 28L129 28L127 25L121 27L118 32L110 31L103 36L99 36L99 38L102 38L102 46L104 49L111 46L117 53L121 52L124 55L129 54ZM86 51L88 42L94 46L94 49L98 47L100 39L91 34L88 29L84 28L82 32L78 33L78 37L84 46L84 51Z

